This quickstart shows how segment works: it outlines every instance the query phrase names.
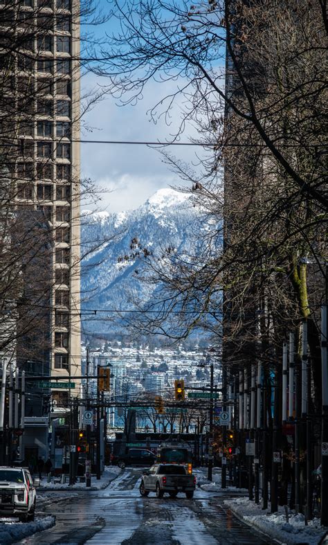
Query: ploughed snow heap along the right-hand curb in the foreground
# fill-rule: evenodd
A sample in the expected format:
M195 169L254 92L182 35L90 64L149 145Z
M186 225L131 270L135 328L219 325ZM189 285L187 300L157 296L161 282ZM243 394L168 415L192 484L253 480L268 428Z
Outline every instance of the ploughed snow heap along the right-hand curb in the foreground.
M285 544L317 545L322 535L327 532L327 528L320 526L319 519L313 519L305 526L302 514L295 515L291 512L287 522L283 507L279 507L277 513L271 513L270 510L262 510L248 498L228 499L224 503L250 526L255 526Z

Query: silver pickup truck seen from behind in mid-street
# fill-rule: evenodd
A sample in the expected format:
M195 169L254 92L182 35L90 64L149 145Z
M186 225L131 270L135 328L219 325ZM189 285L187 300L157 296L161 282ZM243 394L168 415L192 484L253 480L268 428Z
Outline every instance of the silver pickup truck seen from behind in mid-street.
M188 499L194 496L196 477L188 475L184 465L156 464L146 471L140 483L141 496L156 492L157 498L163 498L165 492L175 498L179 492L184 492Z

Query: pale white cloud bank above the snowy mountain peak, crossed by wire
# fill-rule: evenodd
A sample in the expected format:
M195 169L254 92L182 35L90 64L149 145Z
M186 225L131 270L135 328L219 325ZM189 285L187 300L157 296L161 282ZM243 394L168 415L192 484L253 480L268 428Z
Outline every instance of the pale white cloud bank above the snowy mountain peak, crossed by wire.
M82 80L82 94L89 89L101 89L105 78L88 74ZM181 122L181 109L175 105L170 119L156 118L154 123L147 111L154 107L156 100L167 96L176 89L176 82L149 82L143 100L136 105L118 106L112 96L102 98L84 116L86 129L82 130L84 140L118 141L165 141L170 140ZM158 115L161 109L158 110ZM169 121L170 125L167 125ZM183 141L195 136L192 125L188 125ZM188 163L197 163L199 148L170 147L170 152ZM109 212L123 211L140 206L145 199L159 188L181 185L181 180L163 163L163 157L154 148L145 145L81 144L82 176L90 177L112 193L103 195L103 204Z

